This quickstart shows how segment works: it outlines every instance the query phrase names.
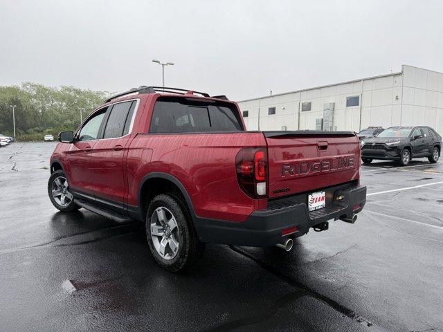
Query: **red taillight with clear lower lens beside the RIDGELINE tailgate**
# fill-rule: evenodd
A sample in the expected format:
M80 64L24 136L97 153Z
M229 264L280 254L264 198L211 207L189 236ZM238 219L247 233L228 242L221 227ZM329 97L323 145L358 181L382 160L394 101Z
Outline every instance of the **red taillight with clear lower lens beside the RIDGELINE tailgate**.
M253 199L266 197L268 156L262 148L244 148L235 158L237 179L245 194Z

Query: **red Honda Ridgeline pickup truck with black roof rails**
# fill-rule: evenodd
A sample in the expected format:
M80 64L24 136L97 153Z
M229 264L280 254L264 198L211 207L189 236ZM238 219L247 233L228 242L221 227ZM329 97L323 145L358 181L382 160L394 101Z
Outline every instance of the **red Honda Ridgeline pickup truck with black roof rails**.
M350 131L246 131L225 96L141 86L106 100L51 156L55 208L146 224L152 256L178 271L205 243L278 245L365 205Z

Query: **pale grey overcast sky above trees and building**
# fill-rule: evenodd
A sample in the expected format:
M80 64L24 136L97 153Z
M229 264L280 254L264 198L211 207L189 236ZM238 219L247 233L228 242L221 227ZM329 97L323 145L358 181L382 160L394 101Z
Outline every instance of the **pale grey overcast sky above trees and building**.
M244 100L443 72L443 1L0 0L0 85L161 85Z

